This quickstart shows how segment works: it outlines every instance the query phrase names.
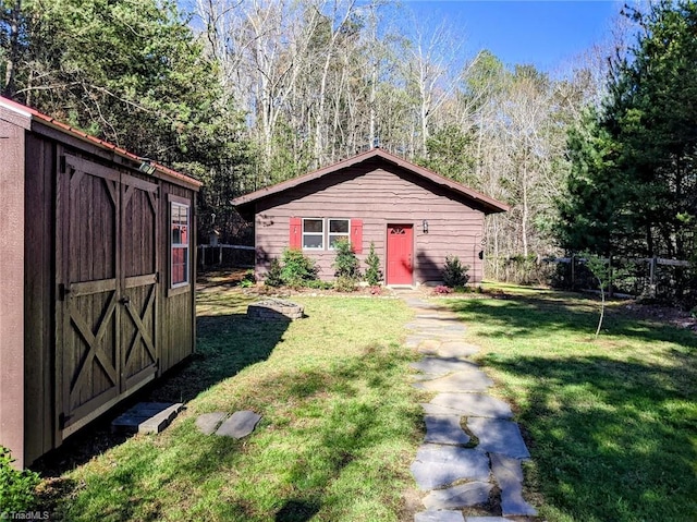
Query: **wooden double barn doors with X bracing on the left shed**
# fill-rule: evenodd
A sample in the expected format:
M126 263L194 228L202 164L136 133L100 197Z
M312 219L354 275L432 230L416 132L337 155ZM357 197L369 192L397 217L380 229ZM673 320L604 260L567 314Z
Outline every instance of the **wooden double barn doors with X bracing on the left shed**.
M64 156L57 204L63 435L157 373L158 185Z

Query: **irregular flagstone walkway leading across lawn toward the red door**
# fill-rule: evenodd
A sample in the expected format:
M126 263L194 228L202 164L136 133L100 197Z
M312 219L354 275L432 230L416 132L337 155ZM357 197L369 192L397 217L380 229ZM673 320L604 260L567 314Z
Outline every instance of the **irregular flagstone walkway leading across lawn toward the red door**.
M537 515L522 495L521 461L529 458L528 450L518 425L511 421L509 404L487 393L493 383L467 361L478 348L463 342L465 325L438 304L414 296L405 301L416 311L416 319L407 325L412 331L406 344L425 355L412 364L419 372L414 386L436 393L421 404L426 437L412 474L425 493L425 511L416 513L414 522L496 522ZM491 506L500 506L501 512L463 515L467 508Z

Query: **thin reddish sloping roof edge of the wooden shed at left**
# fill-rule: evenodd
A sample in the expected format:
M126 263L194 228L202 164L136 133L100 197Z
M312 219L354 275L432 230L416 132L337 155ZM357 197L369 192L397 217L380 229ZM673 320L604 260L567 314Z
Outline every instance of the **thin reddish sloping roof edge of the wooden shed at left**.
M73 136L82 142L85 142L87 144L90 145L95 145L103 150L110 150L112 153L114 153L118 156L121 156L122 158L127 158L132 161L135 161L137 163L143 163L144 161L150 163L152 167L155 167L155 171L164 177L164 178L169 178L172 179L173 181L178 181L180 183L186 184L188 186L191 186L192 189L198 190L201 186L201 182L191 178L186 174L182 174L181 172L178 172L175 170L172 170L168 167L164 167L163 165L157 163L155 161L151 161L147 158L142 158L133 153L127 151L124 148L118 147L117 145L113 145L109 142L106 142L103 139L99 139L98 137L91 136L83 131L80 131L78 129L75 129L73 126L68 125L66 123L63 123L61 121L58 121L57 119L44 114L41 112L39 112L36 109L33 109L30 107L24 106L22 104L17 104L16 101L13 101L9 98L5 98L3 96L0 96L0 109L7 109L11 112L13 112L14 114L17 114L20 117L23 117L25 119L27 119L29 122L39 122L44 125L47 125L51 129L56 129L60 132L63 132L70 136ZM32 129L34 130L34 129Z

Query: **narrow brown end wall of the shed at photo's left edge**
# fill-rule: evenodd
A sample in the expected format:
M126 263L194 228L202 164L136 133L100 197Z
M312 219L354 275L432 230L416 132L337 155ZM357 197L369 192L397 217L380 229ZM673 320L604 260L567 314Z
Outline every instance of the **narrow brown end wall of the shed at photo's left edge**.
M24 129L0 112L0 444L24 465Z

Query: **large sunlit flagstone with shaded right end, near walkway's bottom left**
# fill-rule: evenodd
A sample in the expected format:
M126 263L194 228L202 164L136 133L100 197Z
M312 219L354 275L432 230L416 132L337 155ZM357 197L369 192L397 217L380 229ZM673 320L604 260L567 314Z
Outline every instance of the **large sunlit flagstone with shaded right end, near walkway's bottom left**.
M426 444L416 452L411 470L420 489L435 489L455 481L487 481L489 459L472 449Z

